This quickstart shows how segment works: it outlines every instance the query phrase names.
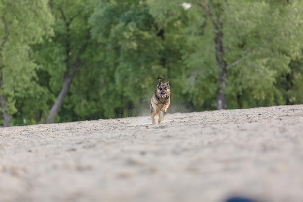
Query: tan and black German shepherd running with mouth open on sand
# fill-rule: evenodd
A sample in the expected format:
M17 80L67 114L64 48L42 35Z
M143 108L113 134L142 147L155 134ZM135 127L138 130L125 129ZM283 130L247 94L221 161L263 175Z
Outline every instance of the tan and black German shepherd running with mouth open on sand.
M159 79L157 89L153 93L152 101L150 105L152 124L156 123L155 116L159 114L158 123L164 120L166 111L170 104L170 86L169 81L162 83L162 80Z

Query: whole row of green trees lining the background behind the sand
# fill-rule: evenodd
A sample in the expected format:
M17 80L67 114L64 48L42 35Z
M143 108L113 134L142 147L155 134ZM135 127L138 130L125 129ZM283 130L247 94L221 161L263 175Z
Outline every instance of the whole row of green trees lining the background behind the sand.
M301 0L1 0L0 124L303 103Z

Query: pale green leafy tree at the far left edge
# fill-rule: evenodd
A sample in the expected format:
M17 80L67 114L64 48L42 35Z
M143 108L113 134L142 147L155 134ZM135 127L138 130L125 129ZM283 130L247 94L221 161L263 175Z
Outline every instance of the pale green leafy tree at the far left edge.
M53 17L47 0L4 0L0 7L0 103L4 126L10 126L17 93L29 88L37 65L30 45L52 34ZM33 32L33 30L35 30Z

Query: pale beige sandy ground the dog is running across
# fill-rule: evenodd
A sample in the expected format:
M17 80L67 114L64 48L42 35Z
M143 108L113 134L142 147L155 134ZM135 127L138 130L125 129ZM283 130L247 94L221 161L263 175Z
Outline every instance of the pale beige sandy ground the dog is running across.
M0 202L303 200L303 105L0 128Z

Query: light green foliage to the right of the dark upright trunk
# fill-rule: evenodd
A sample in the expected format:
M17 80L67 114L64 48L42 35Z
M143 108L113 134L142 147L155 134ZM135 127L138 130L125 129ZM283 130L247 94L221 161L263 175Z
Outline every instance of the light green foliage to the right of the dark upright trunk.
M241 2L227 7L241 15L228 15L231 26L227 27L225 34L226 58L230 64L235 58L250 55L229 70L229 106L242 108L285 104L286 99L281 89L277 88L277 78L288 74L291 59L298 55L302 47L302 30L288 23L301 24L302 19L298 18L300 13L290 5L266 4L263 1L251 3L245 10Z

